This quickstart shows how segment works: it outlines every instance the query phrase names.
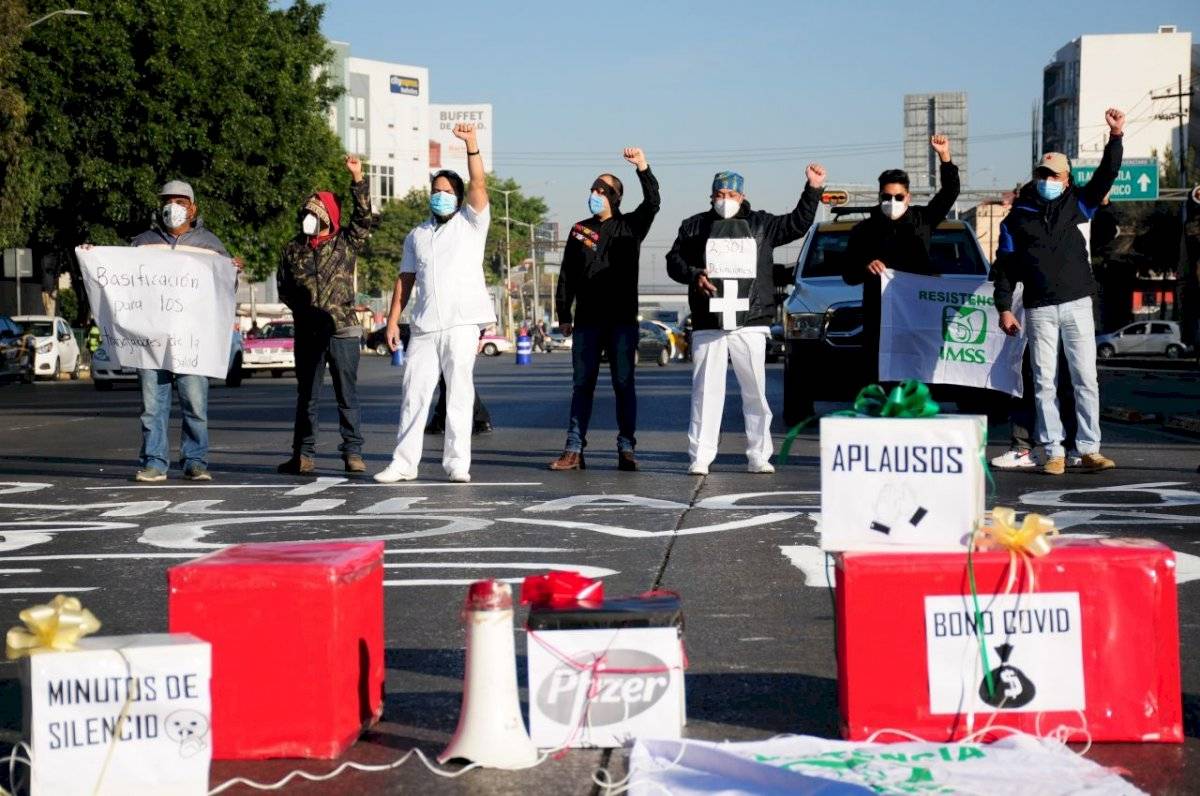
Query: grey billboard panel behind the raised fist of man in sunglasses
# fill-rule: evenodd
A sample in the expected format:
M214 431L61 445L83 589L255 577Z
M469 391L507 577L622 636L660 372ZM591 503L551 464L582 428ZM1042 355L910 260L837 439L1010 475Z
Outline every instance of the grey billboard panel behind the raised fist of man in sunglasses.
M937 187L937 154L929 145L934 134L950 139L950 152L962 181L967 181L967 95L965 91L906 94L904 97L904 170L913 188Z

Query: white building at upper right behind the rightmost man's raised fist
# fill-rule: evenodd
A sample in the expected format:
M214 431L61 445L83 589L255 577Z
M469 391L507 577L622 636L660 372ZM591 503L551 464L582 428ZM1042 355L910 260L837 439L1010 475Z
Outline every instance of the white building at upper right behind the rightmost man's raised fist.
M1127 158L1160 158L1168 146L1178 152L1187 145L1180 142L1178 102L1154 97L1175 94L1181 76L1189 89L1192 52L1192 34L1174 25L1080 36L1062 47L1042 77L1042 151L1098 161L1108 139L1104 112L1116 107L1126 112Z

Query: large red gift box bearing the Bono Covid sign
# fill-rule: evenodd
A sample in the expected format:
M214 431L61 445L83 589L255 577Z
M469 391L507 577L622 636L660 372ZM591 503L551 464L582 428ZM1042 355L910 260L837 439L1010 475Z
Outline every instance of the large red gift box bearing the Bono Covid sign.
M1024 561L974 555L977 615L962 553L841 555L842 735L862 741L895 729L950 741L991 722L1036 735L1069 726L1093 741L1181 743L1171 550L1060 537L1048 556L1028 558L1028 568Z

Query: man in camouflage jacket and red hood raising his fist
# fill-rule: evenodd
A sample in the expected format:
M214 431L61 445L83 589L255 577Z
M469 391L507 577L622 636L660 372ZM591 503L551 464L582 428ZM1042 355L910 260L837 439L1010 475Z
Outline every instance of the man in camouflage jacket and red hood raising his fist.
M353 210L342 225L341 205L329 191L305 199L296 235L283 247L276 282L280 299L292 310L295 329L296 411L292 456L278 466L289 475L317 469L317 431L325 365L337 400L338 450L347 473L366 472L359 417L359 339L362 328L354 310L354 269L371 238L371 188L362 162L346 158Z

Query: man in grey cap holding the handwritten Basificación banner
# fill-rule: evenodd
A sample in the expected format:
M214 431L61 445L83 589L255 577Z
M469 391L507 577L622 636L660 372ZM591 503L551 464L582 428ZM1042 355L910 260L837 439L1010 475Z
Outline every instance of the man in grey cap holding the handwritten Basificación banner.
M221 239L212 234L197 215L196 193L182 180L172 180L158 191L162 207L154 223L131 241L133 246L168 247L175 251L203 249L230 257ZM182 249L180 249L182 247ZM241 259L232 258L238 270ZM234 281L234 289L236 289ZM236 301L229 295L229 303ZM210 481L209 474L209 377L200 373L173 373L169 370L138 369L142 385L142 468L134 475L139 481L167 480L170 454L167 423L170 420L170 385L179 394L182 415L180 455L184 478Z

